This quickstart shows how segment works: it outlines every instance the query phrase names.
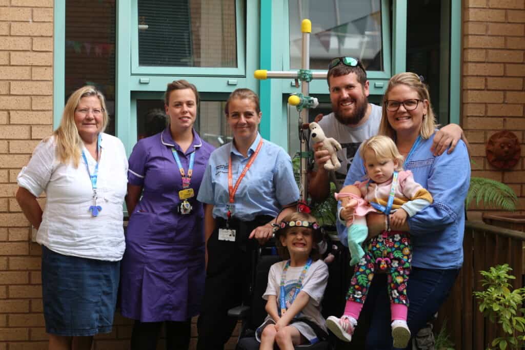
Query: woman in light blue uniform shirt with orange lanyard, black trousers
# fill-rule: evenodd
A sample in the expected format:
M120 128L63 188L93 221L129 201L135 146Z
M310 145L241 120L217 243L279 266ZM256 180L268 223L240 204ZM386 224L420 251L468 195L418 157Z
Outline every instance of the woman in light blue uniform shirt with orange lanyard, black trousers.
M212 153L197 197L205 204L207 257L199 350L224 348L237 323L228 309L250 301L257 241L268 240L272 222L295 211L299 199L290 156L257 131L257 95L235 90L225 113L234 139Z

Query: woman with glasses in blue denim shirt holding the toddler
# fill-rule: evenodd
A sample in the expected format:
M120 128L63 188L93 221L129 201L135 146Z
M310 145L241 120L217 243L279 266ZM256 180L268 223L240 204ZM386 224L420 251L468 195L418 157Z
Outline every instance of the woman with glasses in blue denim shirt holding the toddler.
M453 153L434 156L430 146L436 132L427 87L414 73L399 73L388 83L383 98L379 134L392 137L405 157L405 169L428 189L434 203L407 219L404 227L413 244L412 273L407 283L408 327L412 336L425 326L446 300L463 264L465 197L470 183L467 147L458 141ZM344 185L361 181L363 161L356 153ZM343 209L342 219L350 216ZM386 229L386 216L369 214L369 235ZM338 227L342 229L342 226ZM371 325L367 349L391 349L390 308L386 275L377 275L363 307ZM411 344L407 348L411 348Z

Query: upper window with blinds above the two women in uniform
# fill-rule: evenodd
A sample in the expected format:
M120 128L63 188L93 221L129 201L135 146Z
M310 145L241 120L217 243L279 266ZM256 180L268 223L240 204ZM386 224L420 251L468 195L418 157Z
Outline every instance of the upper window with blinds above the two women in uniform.
M132 73L244 74L244 2L135 0L132 10Z

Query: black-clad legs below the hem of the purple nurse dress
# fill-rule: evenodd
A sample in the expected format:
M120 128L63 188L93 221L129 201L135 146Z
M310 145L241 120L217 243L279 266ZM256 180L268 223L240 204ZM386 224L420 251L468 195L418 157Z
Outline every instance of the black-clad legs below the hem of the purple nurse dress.
M135 320L131 350L156 350L162 324L165 323L166 350L185 350L190 346L192 321L140 322Z

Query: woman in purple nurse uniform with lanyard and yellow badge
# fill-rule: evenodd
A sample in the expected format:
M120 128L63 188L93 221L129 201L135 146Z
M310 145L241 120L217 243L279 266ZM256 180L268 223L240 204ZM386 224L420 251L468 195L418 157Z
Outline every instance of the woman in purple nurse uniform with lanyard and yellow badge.
M132 350L156 349L163 323L166 349L187 349L191 317L200 311L204 212L196 198L213 146L193 129L198 102L193 84L169 83L170 125L140 140L129 158L121 309L135 320Z

